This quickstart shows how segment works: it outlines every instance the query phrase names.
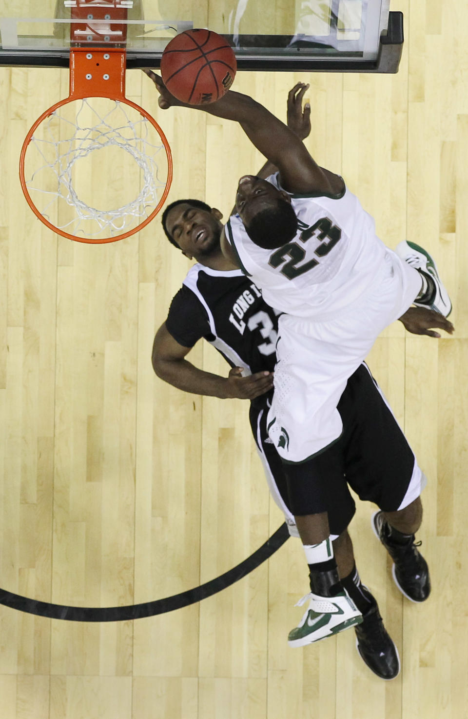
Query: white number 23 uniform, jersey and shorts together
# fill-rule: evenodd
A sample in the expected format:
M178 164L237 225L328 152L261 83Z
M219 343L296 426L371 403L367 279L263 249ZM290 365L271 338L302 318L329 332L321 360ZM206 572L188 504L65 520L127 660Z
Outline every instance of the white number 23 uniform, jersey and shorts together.
M278 174L268 181L280 188ZM244 185L263 182L243 180L239 206ZM298 463L340 436L336 405L349 373L413 303L421 275L376 237L372 217L345 188L335 198L288 197L298 230L274 252L252 242L239 214L225 232L265 301L283 312L269 432L285 462Z

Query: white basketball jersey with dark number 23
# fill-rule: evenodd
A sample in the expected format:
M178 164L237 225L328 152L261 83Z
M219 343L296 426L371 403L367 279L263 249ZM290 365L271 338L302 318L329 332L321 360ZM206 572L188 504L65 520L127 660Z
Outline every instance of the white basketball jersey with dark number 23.
M267 181L283 189L277 173ZM334 319L372 292L387 247L375 234L374 219L347 188L333 197L288 194L299 228L291 242L279 249L258 247L239 215L226 224L226 237L265 302L297 317Z

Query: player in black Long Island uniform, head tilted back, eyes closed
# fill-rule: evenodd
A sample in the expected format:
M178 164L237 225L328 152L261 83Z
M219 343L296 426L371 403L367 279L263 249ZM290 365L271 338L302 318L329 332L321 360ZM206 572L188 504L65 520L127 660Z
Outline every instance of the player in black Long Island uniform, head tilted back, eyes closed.
M292 99L290 96L295 110L302 95L303 92L296 91ZM265 426L275 364L276 313L262 300L260 290L222 255L219 211L200 201L179 201L168 206L162 221L170 241L186 256L198 260L198 264L189 271L171 304L167 321L157 331L152 354L155 372L185 391L251 400L252 431L270 490L293 528L283 464L267 439ZM410 309L402 321L407 329L420 334L436 334L428 329L430 326L451 329L441 315L416 308ZM232 367L229 377L198 370L185 359L201 337L226 357ZM364 615L356 630L359 653L378 676L390 679L398 674L398 652L382 625L377 603L360 583L354 564L347 526L355 508L347 481L362 499L372 500L385 510L378 516L390 518L392 541L405 545L406 556L403 562L401 552L395 558L395 581L408 597L421 601L428 595L428 570L413 548L413 532L421 522L418 495L424 480L413 452L365 365L349 379L339 411L344 423L340 440L342 481L329 487L329 523L332 538L336 538L334 555L341 584ZM311 483L309 491L312 490ZM380 524L376 527L379 529ZM390 538L384 539L390 551ZM413 561L408 562L408 557ZM303 641L300 631L296 631L290 644L306 644L307 638Z

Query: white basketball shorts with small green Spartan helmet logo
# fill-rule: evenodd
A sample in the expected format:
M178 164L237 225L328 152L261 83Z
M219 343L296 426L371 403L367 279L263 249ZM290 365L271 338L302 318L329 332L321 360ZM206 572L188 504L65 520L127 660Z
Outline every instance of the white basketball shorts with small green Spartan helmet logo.
M336 405L348 378L420 290L418 271L387 250L372 288L339 318L280 316L267 430L283 462L304 462L339 438Z

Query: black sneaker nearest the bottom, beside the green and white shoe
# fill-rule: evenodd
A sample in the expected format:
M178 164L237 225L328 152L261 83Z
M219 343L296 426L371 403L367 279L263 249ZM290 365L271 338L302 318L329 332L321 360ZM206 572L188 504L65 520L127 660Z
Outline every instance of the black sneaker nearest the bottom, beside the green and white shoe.
M393 639L383 626L377 603L368 610L356 632L356 649L367 667L380 679L395 679L400 673L400 656Z

